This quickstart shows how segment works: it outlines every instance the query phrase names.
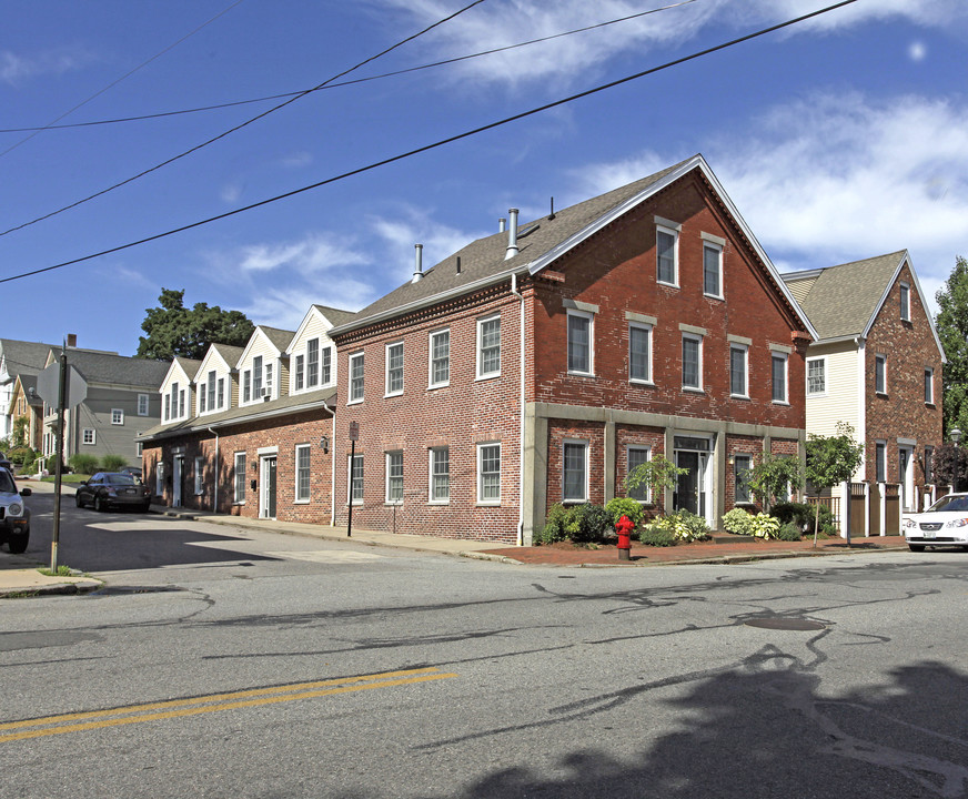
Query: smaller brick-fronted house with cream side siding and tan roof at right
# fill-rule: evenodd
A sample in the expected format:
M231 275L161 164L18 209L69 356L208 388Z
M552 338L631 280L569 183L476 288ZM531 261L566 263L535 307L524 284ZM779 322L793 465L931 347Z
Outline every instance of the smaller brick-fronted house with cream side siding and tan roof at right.
M865 445L854 476L865 518L854 529L896 534L899 513L934 496L931 458L942 441L945 353L910 255L783 277L819 334L807 351L807 431L833 435L841 421L855 429ZM844 502L846 492L834 494Z

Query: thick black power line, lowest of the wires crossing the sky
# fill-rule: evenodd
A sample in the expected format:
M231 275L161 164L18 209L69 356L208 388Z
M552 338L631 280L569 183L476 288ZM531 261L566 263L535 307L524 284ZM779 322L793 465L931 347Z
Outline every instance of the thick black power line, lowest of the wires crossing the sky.
M750 41L752 39L757 39L762 36L766 36L767 33L774 33L775 31L782 30L784 28L789 28L790 26L795 26L799 22L804 22L808 19L813 19L814 17L819 17L825 13L829 13L830 11L835 11L839 8L844 8L845 6L850 6L857 2L857 0L843 0L841 2L834 3L833 6L827 6L826 8L819 9L818 11L813 11L810 13L804 14L801 17L797 17L791 20L787 20L786 22L780 22L775 26L770 26L769 28L764 28L754 33L748 33L744 37L739 37L738 39L733 39L728 42L724 42L723 44L716 44L715 47L707 48L705 50L699 50L698 52L692 53L690 55L684 55L683 58L676 59L675 61L668 61L659 67L653 67L647 70L643 70L642 72L636 72L635 74L626 75L625 78L619 78L618 80L609 81L608 83L603 83L601 85L595 87L594 89L588 89L587 91L583 91L578 94L572 94L571 97L564 98L562 100L555 100L554 102L546 103L544 105L540 105L537 108L533 108L528 111L522 111L521 113L514 114L513 117L505 117L502 120L496 122L491 122L486 125L482 125L481 128L475 128L474 130L465 131L463 133L457 133L455 135L448 136L446 139L441 139L432 144L425 144L424 146L417 148L416 150L410 150L405 153L400 153L399 155L392 155L391 158L383 159L382 161L376 161L374 163L367 164L366 166L360 166L357 169L351 170L349 172L343 172L342 174L334 175L332 178L327 178L326 180L319 181L317 183L312 183L310 185L302 186L301 189L294 189L290 192L285 192L284 194L276 194L275 196L269 198L266 200L261 200L256 203L252 203L250 205L245 205L244 208L234 209L232 211L226 211L225 213L218 214L215 216L210 216L204 220L199 220L196 222L192 222L186 225L182 225L180 227L173 227L171 230L164 231L163 233L155 233L154 235L145 236L144 239L139 239L138 241L128 242L127 244L119 244L118 246L110 247L108 250L102 250L101 252L92 253L90 255L83 255L81 257L72 259L71 261L63 261L59 264L53 264L52 266L43 266L41 269L31 270L30 272L22 272L21 274L12 275L10 277L0 279L0 283L9 283L10 281L21 280L23 277L30 277L32 275L42 274L44 272L52 272L53 270L63 269L64 266L72 266L77 263L82 263L84 261L92 261L95 257L101 257L102 255L111 255L117 252L121 252L123 250L130 250L131 247L139 246L141 244L148 244L149 242L158 241L159 239L165 239L168 236L174 235L177 233L183 233L185 231L192 230L194 227L201 227L202 225L210 224L212 222L218 222L223 219L228 219L229 216L234 216L235 214L243 213L245 211L252 211L253 209L262 208L263 205L269 205L274 202L279 202L280 200L286 200L291 196L295 196L296 194L302 194L303 192L311 191L313 189L319 189L320 186L327 185L330 183L335 183L341 180L345 180L346 178L352 178L353 175L362 174L363 172L369 172L379 166L385 166L386 164L394 163L396 161L402 161L403 159L411 158L413 155L417 155L420 153L427 152L430 150L434 150L436 148L443 146L444 144L451 144L455 141L460 141L461 139L467 139L468 136L476 135L478 133L483 133L488 130L493 130L495 128L500 128L502 125L508 124L511 122L516 122L517 120L525 119L527 117L533 117L534 114L541 113L543 111L548 111L549 109L557 108L559 105L564 105L569 102L574 102L575 100L581 100L586 97L591 97L592 94L597 94L598 92L605 91L607 89L614 89L617 85L622 85L623 83L628 83L634 80L638 80L639 78L644 78L649 74L655 74L656 72L661 72L663 70L670 69L672 67L677 67L679 64L686 63L687 61L694 61L695 59L703 58L704 55L709 55L710 53L718 52L720 50L726 50L727 48L735 47L736 44L742 44L744 42Z

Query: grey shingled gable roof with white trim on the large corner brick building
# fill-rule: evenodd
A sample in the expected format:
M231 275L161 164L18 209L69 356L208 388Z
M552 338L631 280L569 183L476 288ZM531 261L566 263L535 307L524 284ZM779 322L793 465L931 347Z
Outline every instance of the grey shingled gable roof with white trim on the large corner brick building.
M809 318L790 295L776 267L702 155L694 155L605 194L555 211L552 216L542 216L520 224L518 253L511 259L505 260L507 233L495 233L478 239L426 270L416 283L406 283L367 305L356 313L353 320L334 327L330 335L340 335L452 296L467 294L507 280L512 274L537 274L588 236L693 170L699 170L712 185L713 191L733 215L756 255L773 276L777 291L786 297L793 313L803 322L804 328L816 337L816 331Z

